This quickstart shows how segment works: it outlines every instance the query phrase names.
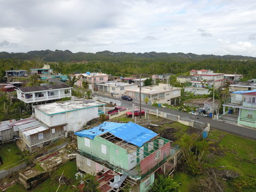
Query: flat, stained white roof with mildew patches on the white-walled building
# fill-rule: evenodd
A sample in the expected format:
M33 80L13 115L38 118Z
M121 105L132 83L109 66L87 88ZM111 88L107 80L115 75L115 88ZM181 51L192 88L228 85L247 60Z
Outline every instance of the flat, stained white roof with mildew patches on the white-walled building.
M69 101L47 103L44 105L37 105L34 106L34 108L41 111L45 115L54 115L103 105L106 105L106 103L91 99L75 99Z

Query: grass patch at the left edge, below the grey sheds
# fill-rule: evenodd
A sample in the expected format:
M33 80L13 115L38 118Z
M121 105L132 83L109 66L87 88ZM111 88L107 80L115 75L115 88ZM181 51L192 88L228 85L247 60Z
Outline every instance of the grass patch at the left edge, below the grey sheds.
M21 153L21 151L17 147L16 143L10 143L10 144L6 144L4 146L0 146L0 155L4 162L4 164L0 166L0 170L4 169L4 167L6 167L6 166L8 166L6 169L10 169L11 167L21 164L22 162L17 163L20 161L20 159L19 159L20 153ZM14 164L14 163L16 163L16 164ZM14 164L14 165L12 165L12 164ZM11 166L9 166L9 165L11 165Z

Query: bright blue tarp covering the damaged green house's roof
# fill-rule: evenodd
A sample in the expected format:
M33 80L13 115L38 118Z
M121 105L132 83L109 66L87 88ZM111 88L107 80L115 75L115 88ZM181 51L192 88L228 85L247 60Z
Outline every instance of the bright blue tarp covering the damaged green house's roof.
M93 127L90 130L76 132L75 134L79 137L94 139L95 136L107 132L138 147L141 147L143 143L149 141L157 135L157 133L132 122L104 122L97 127Z

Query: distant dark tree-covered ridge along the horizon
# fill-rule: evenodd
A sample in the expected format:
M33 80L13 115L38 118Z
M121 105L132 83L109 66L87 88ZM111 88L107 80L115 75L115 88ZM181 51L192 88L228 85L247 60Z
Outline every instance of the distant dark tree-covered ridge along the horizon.
M69 50L41 50L29 51L27 53L8 53L0 52L0 59L12 58L21 60L31 60L33 58L44 58L44 61L90 61L90 60L109 60L109 59L170 59L170 60L201 60L201 59L225 59L225 60L256 60L255 57L247 57L242 55L198 55L194 53L166 53L166 52L145 52L145 53L126 53L126 52L111 52L101 51L97 53L77 52L73 53Z

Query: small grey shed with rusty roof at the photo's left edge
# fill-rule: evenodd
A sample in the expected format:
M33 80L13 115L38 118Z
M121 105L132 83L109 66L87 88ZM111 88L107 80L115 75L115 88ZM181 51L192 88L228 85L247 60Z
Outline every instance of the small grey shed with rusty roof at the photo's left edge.
M0 143L12 140L14 136L18 136L18 130L14 130L12 124L15 119L0 122Z

